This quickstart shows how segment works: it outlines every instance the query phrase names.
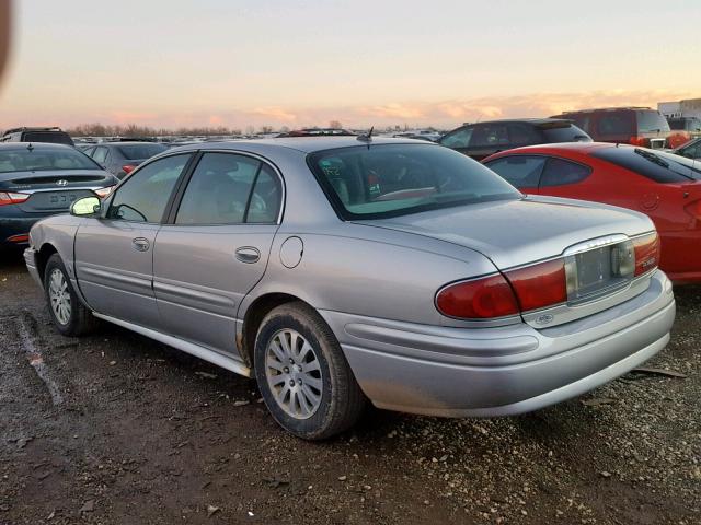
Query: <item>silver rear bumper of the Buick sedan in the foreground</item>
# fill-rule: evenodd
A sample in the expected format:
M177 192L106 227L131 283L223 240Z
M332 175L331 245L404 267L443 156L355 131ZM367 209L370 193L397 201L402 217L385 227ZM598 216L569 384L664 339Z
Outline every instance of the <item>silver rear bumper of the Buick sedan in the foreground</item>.
M322 312L363 390L380 407L445 417L508 416L578 396L660 351L675 318L657 271L642 294L536 330L447 328Z

